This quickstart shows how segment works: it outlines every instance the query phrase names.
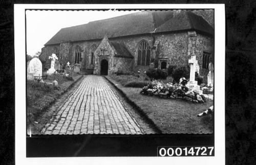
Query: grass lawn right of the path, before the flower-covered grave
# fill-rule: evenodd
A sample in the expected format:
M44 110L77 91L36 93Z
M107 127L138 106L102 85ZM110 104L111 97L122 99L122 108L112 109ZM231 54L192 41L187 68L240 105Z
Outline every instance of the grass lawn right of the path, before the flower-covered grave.
M117 87L140 107L162 133L212 133L212 117L197 115L213 105L213 101L197 104L180 99L145 96L139 93L141 88L123 87L110 76L107 78L118 84Z

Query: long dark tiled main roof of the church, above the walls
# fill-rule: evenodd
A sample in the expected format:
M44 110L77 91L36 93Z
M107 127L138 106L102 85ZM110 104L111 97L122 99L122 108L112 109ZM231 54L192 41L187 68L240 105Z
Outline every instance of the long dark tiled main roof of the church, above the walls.
M214 30L209 23L189 11L181 11L174 16L174 11L141 11L114 18L89 22L87 24L61 29L45 45L67 41L83 41L148 34L155 31L168 32L195 29L208 34Z

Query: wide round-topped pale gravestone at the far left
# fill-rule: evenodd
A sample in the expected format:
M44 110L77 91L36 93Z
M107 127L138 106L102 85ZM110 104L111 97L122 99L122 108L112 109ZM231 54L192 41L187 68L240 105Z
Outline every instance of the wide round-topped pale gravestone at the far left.
M34 76L42 76L42 63L38 58L33 58L27 62L27 79L34 80Z

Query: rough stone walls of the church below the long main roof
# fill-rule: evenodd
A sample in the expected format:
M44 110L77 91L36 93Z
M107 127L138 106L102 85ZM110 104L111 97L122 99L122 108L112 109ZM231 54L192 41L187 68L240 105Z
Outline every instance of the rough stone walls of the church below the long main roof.
M196 33L196 32L193 32ZM140 41L146 40L151 47L157 45L156 52L158 57L158 64L160 68L160 62L166 61L167 67L169 65L184 66L188 65L188 59L193 51L197 55L197 60L200 66L200 75L204 76L207 80L207 69L202 69L202 58L203 51L212 52L214 47L214 40L210 37L204 36L202 34L196 33L196 36L189 36L188 32L180 33L165 33L165 34L154 34L151 35L140 35L140 36L129 36L122 38L110 38L110 42L123 43L126 48L130 51L134 59L127 58L109 58L110 70L115 71L116 68L121 70L129 69L131 71L144 72L152 66L137 66L137 46ZM46 61L46 68L50 68L49 56L54 53L55 47L58 47L60 53L60 62L66 64L68 61L74 63L75 61L75 48L80 46L82 62L81 68L83 69L94 69L94 67L99 68L99 59L95 59L95 64L91 64L91 49L95 44L96 48L99 46L101 40L92 41L81 41L74 43L61 43L60 45L49 45L42 48L42 53L39 59L44 65ZM153 45L154 44L154 45ZM96 53L96 52L95 52ZM96 56L95 56L96 57ZM152 50L151 58L155 58L155 50ZM116 60L116 66L112 62ZM43 66L44 67L44 66ZM98 70L99 71L99 70Z

